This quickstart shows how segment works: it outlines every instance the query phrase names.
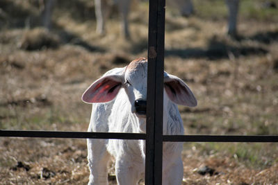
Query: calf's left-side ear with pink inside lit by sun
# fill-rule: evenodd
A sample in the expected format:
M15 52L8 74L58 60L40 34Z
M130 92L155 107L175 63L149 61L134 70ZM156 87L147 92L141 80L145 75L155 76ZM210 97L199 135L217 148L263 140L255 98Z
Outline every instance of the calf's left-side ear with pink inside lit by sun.
M99 78L84 92L82 100L85 103L106 103L113 100L122 87L119 75Z

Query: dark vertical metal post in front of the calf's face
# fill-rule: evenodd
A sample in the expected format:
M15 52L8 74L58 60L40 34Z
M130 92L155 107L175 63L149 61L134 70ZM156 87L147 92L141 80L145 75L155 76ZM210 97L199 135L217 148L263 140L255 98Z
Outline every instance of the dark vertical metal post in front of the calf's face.
M149 0L145 184L162 184L165 0Z

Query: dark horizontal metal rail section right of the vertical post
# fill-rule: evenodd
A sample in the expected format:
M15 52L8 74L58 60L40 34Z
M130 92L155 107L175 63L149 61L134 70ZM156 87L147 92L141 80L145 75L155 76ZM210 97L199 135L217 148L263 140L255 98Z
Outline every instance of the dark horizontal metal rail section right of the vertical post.
M163 135L170 142L231 142L231 143L277 143L278 135Z

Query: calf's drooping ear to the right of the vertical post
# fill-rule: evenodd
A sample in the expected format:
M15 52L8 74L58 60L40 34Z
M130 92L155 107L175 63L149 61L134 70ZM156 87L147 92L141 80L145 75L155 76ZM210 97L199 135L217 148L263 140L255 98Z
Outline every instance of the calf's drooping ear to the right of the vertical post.
M197 106L197 100L193 92L189 89L186 83L177 78L177 76L167 74L164 77L164 88L172 102L177 103L178 105L186 105L188 107Z

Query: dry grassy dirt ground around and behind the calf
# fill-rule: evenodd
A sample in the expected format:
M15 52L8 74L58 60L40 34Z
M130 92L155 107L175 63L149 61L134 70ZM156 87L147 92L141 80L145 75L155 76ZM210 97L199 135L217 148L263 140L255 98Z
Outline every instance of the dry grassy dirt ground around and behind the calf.
M167 9L165 71L198 100L179 107L185 134L278 134L278 11L265 2L243 0L237 38L226 35L222 0L195 0L188 18ZM147 57L146 1L133 3L130 40L117 12L106 35L95 33L94 8L58 1L46 30L37 1L0 1L0 129L86 131L83 91ZM88 183L84 139L0 138L0 154L0 184ZM183 184L278 184L277 154L277 143L184 143Z

